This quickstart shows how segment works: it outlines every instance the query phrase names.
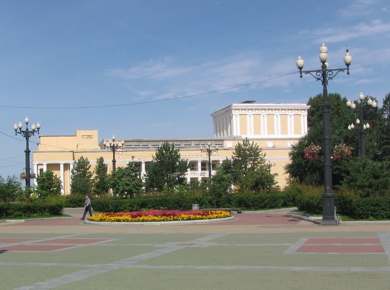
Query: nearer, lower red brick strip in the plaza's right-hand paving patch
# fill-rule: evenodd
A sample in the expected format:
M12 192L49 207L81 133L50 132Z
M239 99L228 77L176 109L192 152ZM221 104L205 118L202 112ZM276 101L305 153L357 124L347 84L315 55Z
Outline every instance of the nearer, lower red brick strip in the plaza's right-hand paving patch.
M297 250L298 253L384 253L381 245L303 245Z

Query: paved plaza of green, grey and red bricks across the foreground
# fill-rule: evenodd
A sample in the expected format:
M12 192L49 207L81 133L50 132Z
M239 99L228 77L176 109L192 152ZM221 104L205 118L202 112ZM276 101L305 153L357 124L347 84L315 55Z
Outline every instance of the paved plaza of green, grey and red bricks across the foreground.
M216 223L0 223L0 288L390 289L390 223L320 226L287 211Z

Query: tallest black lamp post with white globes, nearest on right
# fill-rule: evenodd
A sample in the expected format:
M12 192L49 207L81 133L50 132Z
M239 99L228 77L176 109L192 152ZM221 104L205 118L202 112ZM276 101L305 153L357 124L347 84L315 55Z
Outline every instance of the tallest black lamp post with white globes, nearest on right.
M322 43L320 46L320 61L322 63L320 70L302 71L304 61L298 56L296 66L299 69L300 78L302 73L312 75L317 81L321 81L323 86L323 103L322 103L322 118L324 123L324 192L322 193L322 222L321 225L337 225L335 210L334 210L334 192L332 191L332 164L331 164L331 104L328 99L328 82L332 80L339 72L344 72L347 69L347 75L350 74L350 64L352 57L347 49L347 54L344 56L344 63L347 68L328 69L328 47Z

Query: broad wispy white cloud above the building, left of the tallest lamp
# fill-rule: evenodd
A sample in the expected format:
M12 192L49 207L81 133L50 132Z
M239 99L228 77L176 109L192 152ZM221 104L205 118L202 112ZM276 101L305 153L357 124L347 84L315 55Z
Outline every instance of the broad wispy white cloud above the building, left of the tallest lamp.
M267 81L296 70L294 60L286 58L275 62L268 60L265 63L262 59L259 52L251 51L183 66L171 57L149 60L130 68L110 69L106 73L127 80L126 82L131 83L132 93L150 101L214 91L239 91L245 89L240 86L250 83L254 84L245 86L246 89L258 90L259 87L274 86L288 88L292 80L295 80L282 77Z

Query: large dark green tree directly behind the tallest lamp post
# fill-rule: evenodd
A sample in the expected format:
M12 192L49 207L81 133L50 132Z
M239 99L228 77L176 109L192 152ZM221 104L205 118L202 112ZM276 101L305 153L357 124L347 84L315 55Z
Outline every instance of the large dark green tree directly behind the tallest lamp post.
M369 96L368 96L369 97ZM375 99L371 97L371 99ZM329 94L331 103L331 147L345 144L351 146L353 158L340 158L332 160L332 183L334 187L343 184L344 177L349 175L351 162L358 156L358 135L357 128L348 131L347 127L359 117L357 111L352 111L347 107L346 98L342 98L337 93ZM323 150L320 151L318 158L305 159L304 149L309 145L323 146L323 122L322 122L322 95L319 94L310 98L308 104L311 106L308 110L309 133L303 137L297 144L292 146L289 153L291 163L285 166L290 180L309 185L323 185ZM360 101L355 100L355 104ZM366 111L364 122L370 123L370 130L366 131L366 157L371 160L380 160L382 149L386 140L386 133L382 128L384 113L379 109L370 109ZM386 155L386 154L383 154Z

